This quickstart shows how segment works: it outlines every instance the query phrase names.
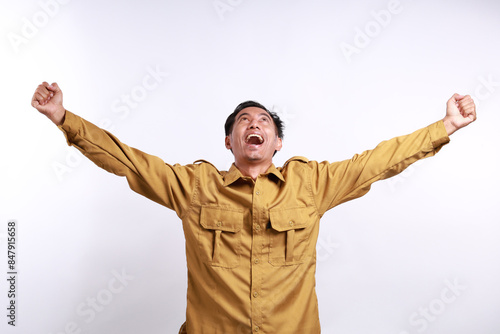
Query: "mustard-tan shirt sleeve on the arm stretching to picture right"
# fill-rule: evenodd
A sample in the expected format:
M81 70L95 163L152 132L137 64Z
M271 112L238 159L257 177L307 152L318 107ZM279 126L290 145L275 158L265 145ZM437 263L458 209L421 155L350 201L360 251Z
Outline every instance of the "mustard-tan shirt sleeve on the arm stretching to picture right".
M375 181L401 173L415 161L436 154L450 141L442 121L409 135L381 142L349 160L313 164L311 189L319 213L366 194Z

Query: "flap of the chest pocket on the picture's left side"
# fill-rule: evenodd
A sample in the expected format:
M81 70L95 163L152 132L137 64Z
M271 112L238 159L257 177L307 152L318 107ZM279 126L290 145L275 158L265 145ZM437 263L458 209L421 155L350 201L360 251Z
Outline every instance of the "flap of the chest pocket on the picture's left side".
M200 224L207 230L236 233L243 226L243 212L204 206L201 208Z

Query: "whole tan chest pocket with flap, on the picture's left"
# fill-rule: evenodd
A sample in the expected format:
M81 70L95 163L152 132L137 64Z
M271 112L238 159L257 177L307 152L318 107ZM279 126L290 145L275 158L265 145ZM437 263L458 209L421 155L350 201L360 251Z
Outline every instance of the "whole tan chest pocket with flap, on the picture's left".
M198 244L204 262L213 267L236 268L240 262L243 211L202 207Z

